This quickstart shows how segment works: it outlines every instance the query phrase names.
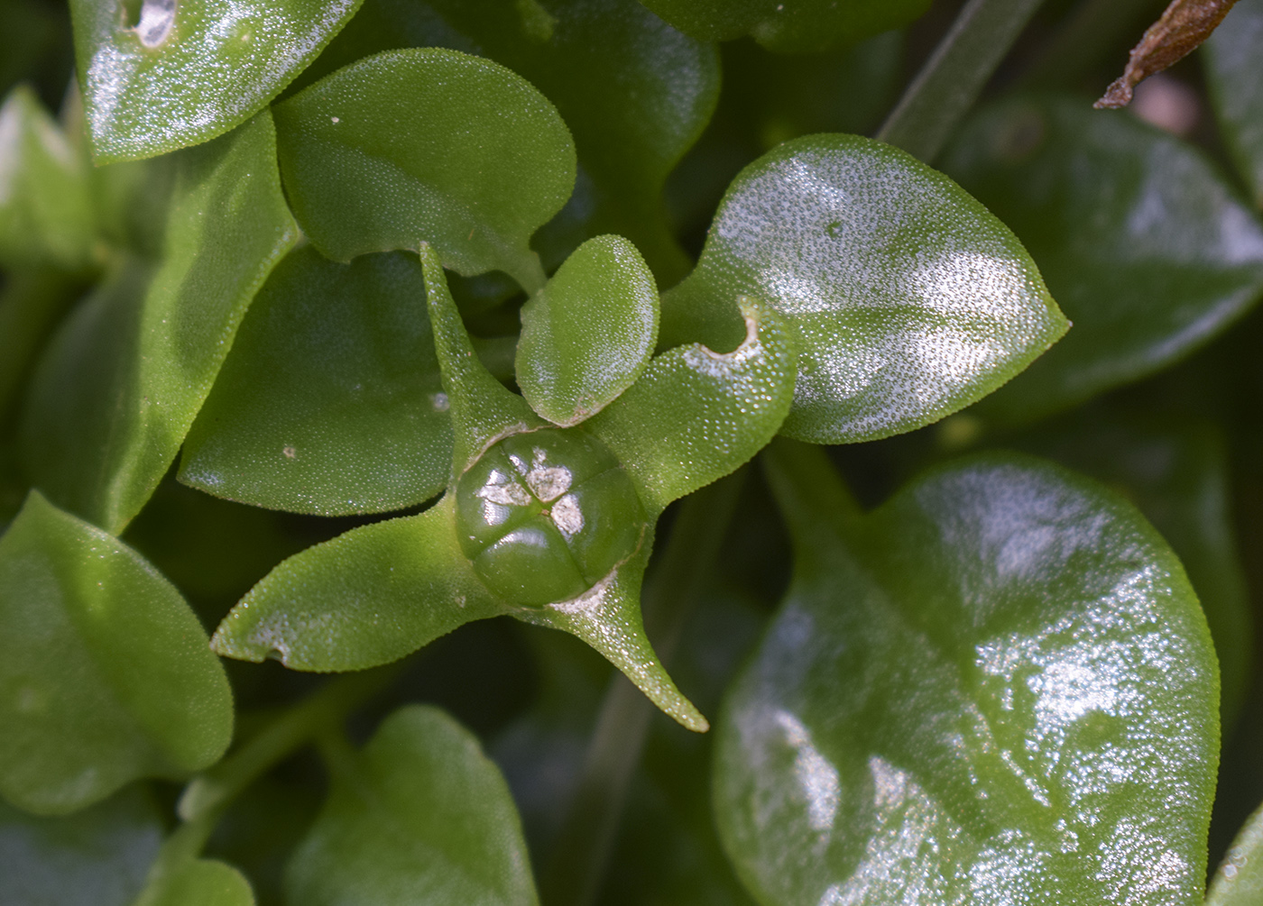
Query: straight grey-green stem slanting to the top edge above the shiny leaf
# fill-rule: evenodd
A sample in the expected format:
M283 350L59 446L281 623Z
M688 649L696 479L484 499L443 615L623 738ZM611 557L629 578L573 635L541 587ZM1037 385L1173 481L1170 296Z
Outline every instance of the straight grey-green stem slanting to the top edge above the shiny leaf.
M933 163L1041 0L969 0L877 138Z

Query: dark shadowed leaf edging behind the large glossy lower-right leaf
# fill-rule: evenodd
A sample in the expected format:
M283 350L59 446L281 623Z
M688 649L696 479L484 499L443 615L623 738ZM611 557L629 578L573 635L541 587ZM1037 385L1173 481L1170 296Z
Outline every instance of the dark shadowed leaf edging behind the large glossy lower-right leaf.
M1106 418L1058 420L1009 445L1122 491L1162 532L1188 573L1215 640L1220 715L1229 729L1247 697L1254 627L1236 553L1225 438L1212 423L1173 414L1142 419L1105 411Z

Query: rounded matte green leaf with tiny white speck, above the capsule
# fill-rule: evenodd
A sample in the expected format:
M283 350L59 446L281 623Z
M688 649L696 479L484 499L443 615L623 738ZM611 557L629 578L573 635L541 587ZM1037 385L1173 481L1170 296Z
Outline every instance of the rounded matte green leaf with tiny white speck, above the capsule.
M465 274L543 283L530 235L570 197L575 145L557 110L504 67L456 50L393 50L275 109L280 167L326 256L417 249Z

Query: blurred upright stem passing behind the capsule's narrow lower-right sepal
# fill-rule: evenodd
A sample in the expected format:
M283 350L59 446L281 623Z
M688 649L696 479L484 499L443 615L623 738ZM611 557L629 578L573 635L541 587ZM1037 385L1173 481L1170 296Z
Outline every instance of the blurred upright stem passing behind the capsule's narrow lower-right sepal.
M671 540L643 596L645 625L653 630L663 664L669 662L706 573L719 555L745 474L741 469L722 478L681 505ZM650 717L649 699L623 674L615 674L542 878L548 906L587 906L596 898Z

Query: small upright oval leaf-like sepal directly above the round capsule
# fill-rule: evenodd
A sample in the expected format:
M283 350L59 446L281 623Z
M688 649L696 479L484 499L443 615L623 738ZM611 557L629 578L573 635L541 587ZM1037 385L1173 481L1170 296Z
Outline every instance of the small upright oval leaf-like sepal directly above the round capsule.
M522 309L518 386L553 424L578 424L632 386L657 341L653 274L625 238L599 236Z

